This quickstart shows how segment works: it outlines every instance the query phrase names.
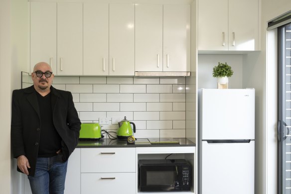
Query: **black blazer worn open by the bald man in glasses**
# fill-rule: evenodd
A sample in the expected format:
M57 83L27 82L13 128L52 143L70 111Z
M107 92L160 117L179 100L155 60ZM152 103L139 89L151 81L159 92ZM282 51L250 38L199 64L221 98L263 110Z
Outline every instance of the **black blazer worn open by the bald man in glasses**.
M63 161L67 161L78 144L81 122L71 92L50 87L53 124L62 138ZM11 147L13 157L27 157L29 175L34 176L40 138L40 113L33 85L12 93ZM20 170L17 167L17 170Z

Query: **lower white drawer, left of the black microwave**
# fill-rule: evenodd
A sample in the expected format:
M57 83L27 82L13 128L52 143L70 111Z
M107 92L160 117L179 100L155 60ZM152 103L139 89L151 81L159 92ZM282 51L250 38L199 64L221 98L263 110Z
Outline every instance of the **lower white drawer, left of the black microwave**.
M135 194L136 173L82 173L81 194Z

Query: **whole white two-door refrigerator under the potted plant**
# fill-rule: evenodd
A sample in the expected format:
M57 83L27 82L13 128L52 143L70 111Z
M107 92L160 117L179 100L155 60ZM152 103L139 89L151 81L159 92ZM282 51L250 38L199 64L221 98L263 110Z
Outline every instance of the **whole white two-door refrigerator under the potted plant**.
M198 90L198 194L254 194L255 89Z

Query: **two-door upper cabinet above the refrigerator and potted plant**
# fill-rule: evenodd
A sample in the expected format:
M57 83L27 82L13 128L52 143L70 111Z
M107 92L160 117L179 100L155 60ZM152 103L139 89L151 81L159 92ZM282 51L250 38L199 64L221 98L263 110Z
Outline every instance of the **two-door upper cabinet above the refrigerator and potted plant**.
M258 0L199 0L198 50L258 50Z

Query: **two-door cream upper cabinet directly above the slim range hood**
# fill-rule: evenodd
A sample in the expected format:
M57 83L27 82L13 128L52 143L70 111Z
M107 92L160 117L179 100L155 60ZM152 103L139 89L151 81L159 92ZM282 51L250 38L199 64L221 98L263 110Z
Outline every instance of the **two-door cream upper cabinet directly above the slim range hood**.
M190 71L190 5L136 5L136 71Z

